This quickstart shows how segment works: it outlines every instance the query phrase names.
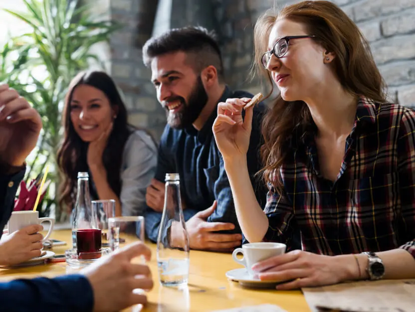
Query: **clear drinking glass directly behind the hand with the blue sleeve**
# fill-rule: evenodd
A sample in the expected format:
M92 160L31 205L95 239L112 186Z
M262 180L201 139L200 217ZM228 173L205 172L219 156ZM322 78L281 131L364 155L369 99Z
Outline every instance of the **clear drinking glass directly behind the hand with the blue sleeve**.
M144 217L123 216L109 218L108 236L112 251L134 242L144 242Z

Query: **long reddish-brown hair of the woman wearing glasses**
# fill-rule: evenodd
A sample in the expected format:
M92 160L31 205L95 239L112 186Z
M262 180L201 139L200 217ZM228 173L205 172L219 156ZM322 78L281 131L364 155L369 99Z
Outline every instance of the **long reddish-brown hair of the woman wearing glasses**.
M279 12L270 9L259 17L254 28L254 73L267 77L273 90L269 71L261 63L267 50L269 34L277 19L289 19L305 25L307 33L314 35L321 46L336 57L332 62L344 90L356 96L366 96L377 102L386 101L385 82L373 60L369 43L356 24L337 5L329 1L303 1L289 5ZM281 166L290 153L292 136L302 137L312 123L310 111L303 101L287 102L278 96L272 109L264 117L262 134L264 145L260 171L267 184L281 194Z

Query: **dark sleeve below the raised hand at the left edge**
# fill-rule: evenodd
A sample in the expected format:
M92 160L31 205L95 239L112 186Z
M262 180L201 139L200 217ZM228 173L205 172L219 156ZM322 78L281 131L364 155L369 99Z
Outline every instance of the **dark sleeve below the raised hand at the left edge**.
M13 175L0 175L0 238L3 228L10 218L14 208L14 196L20 181L23 179L25 169Z

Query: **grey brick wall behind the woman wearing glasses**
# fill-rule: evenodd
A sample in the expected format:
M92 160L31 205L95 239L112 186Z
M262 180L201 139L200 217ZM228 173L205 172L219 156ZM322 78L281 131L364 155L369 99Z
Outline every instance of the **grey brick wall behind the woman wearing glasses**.
M248 83L252 58L252 25L260 13L292 0L215 0L228 81L233 87L257 90ZM392 101L415 106L415 0L333 0L359 26L389 89Z

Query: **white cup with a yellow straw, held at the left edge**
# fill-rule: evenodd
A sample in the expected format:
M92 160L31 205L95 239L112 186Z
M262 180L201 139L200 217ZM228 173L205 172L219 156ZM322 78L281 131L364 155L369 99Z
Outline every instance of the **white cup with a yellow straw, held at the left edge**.
M26 226L33 224L41 224L42 222L49 222L50 227L46 236L43 238L42 243L47 240L52 233L53 226L55 225L55 219L53 218L39 218L38 211L14 211L11 213L10 219L8 220L7 231L11 234L18 231Z

